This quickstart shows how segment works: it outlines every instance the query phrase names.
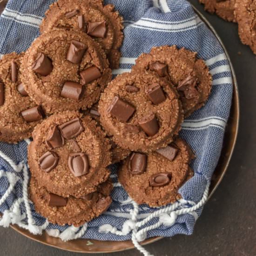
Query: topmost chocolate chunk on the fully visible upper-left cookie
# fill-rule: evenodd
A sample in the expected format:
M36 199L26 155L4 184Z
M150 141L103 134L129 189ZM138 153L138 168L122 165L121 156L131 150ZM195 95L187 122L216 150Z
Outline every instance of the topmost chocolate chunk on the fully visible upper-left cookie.
M67 51L67 60L74 64L79 64L84 56L85 51L85 44L72 40Z

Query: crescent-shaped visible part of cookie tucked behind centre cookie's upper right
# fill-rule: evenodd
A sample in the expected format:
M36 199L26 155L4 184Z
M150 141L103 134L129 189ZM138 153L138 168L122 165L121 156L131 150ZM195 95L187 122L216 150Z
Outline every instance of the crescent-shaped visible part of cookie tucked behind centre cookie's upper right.
M141 54L132 70L149 70L168 78L180 94L185 117L204 105L212 87L205 62L197 59L196 53L176 46L153 47L149 54Z

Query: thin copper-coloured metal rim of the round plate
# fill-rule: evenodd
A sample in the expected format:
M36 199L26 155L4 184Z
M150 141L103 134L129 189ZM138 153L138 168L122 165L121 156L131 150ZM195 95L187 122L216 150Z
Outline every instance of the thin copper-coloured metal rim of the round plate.
M233 91L232 106L231 106L231 109L233 109L234 115L235 115L234 120L232 121L233 122L233 124L232 124L233 136L231 136L230 141L229 141L229 143L230 143L229 155L225 160L225 165L222 169L221 175L219 176L219 178L218 178L216 184L214 185L214 187L211 188L211 191L210 191L210 194L209 194L209 197L208 197L208 200L209 200L209 198L216 191L219 184L222 182L222 179L223 179L225 173L227 172L227 168L229 166L229 162L230 162L231 157L233 155L234 148L236 146L236 140L237 140L237 135L238 135L238 130L239 130L239 120L240 120L240 102L239 102L239 92L238 92L238 85L237 85L235 70L234 70L232 62L230 60L230 57L229 57L229 54L227 52L226 47L224 46L224 44L223 44L220 36L216 32L215 28L210 24L210 22L205 18L205 16L197 8L195 8L192 4L191 4L191 6L195 10L195 13L209 27L209 29L213 32L213 34L215 34L217 40L222 45L223 50L224 50L224 52L227 55L227 58L229 60L229 64L230 64L230 67L231 67L232 78L233 78L233 89L234 89L234 91ZM231 116L229 115L229 121L230 121L230 119L231 119ZM225 138L225 136L224 136L224 138ZM219 162L220 162L220 160L219 160ZM55 238L55 237L49 236L49 235L47 235L47 233L45 231L43 232L43 235L33 235L28 230L22 229L16 224L14 224L14 225L12 224L10 226L11 226L12 229L17 231L21 235L26 236L27 238L32 239L36 242L39 242L39 243L42 243L44 245L48 245L48 246L51 246L51 247L54 247L54 248L57 248L57 249L71 251L71 252L95 253L96 254L96 253L119 252L119 251L125 251L125 250L128 250L128 249L134 249L135 248L134 245L131 243L131 241L98 241L98 240L92 240L92 239L87 239L87 240L88 241L93 241L95 243L115 243L115 244L122 243L122 244L126 244L126 246L121 246L121 247L117 246L116 248L115 248L115 246L112 246L115 249L108 249L108 250L102 250L102 251L91 250L89 246L87 247L87 249L84 249L84 250L74 249L74 248L72 248L73 246L70 246L70 248L63 248L60 245L57 245L57 243L54 244L54 240L60 240L60 238ZM42 241L42 237L45 238L45 241ZM158 241L162 238L163 238L162 236L151 237L151 238L148 238L147 240L143 241L141 244L142 245L147 245L147 244L150 244L150 243L154 243L154 242L156 242L156 241ZM49 243L50 242L49 240L52 240L52 242ZM73 241L69 241L69 242L61 241L61 243L65 243L65 244L74 243L74 242L77 242L78 240L82 240L83 242L86 241L86 239L77 239L77 240L73 240ZM55 242L57 242L57 241L55 241Z

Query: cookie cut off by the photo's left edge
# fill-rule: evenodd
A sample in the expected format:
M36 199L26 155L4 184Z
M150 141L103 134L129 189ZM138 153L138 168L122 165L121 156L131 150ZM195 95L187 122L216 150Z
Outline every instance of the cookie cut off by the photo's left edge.
M23 54L6 54L0 60L0 141L18 142L31 137L33 128L44 117L24 89L20 79Z

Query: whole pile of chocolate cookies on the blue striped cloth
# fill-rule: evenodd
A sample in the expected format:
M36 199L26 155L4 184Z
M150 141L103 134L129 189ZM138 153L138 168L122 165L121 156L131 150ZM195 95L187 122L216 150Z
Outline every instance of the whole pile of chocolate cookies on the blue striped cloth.
M111 163L138 203L174 202L193 175L194 153L178 133L209 97L205 62L184 48L141 54L119 66L122 18L101 0L58 0L40 37L0 61L0 141L33 137L30 198L59 225L80 226L112 202Z

